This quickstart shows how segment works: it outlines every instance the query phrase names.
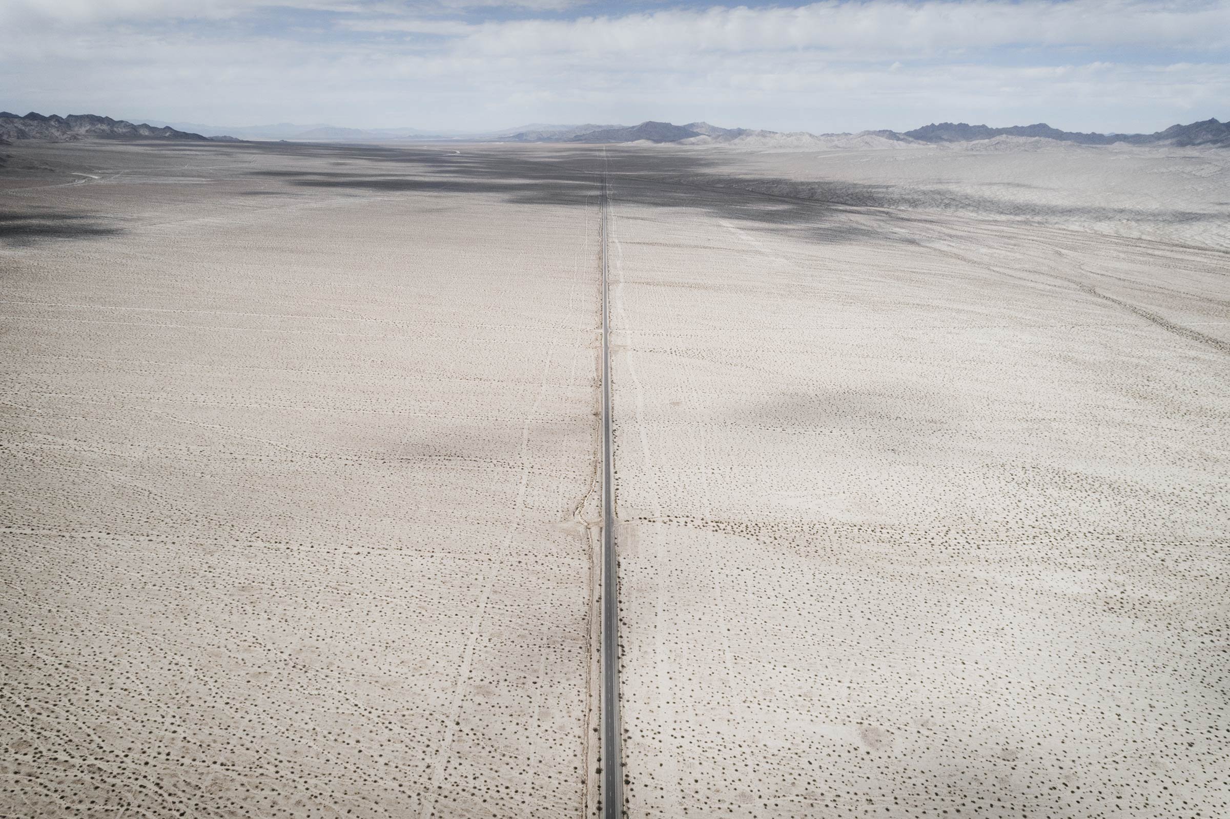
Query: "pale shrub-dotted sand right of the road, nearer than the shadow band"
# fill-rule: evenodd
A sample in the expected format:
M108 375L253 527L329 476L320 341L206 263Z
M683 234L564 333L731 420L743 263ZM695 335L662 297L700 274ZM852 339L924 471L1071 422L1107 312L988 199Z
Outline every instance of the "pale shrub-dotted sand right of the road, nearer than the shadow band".
M1230 815L1225 253L645 184L631 817Z

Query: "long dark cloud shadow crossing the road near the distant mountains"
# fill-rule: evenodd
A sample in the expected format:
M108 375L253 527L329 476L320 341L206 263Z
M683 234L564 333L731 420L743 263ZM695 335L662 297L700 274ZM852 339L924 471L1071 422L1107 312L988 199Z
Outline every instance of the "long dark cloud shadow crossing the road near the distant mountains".
M248 149L245 145L245 149ZM374 192L494 193L523 204L585 204L598 192L604 167L613 192L631 204L667 209L694 208L723 219L782 229L833 225L834 216L859 209L959 212L990 216L1039 216L1047 220L1143 220L1165 224L1207 221L1216 214L1194 210L1149 210L1073 207L1031 202L1027 213L1015 202L940 187L904 187L838 180L731 173L723 152L659 148L465 145L380 146L252 144L248 150L279 156L325 160L331 170L255 171L314 188ZM337 170L346 167L347 170ZM392 168L396 168L394 171ZM831 241L859 240L882 232L850 224L825 231Z

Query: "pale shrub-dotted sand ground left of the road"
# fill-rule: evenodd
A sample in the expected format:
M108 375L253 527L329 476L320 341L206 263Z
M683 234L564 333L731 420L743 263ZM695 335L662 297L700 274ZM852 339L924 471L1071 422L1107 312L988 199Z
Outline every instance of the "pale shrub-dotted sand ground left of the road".
M582 815L597 199L7 150L0 815Z

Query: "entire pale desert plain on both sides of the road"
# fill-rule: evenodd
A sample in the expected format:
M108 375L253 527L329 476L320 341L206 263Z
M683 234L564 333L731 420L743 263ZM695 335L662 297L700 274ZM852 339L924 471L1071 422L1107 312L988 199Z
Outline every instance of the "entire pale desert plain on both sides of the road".
M0 148L0 815L1230 814L1230 151Z

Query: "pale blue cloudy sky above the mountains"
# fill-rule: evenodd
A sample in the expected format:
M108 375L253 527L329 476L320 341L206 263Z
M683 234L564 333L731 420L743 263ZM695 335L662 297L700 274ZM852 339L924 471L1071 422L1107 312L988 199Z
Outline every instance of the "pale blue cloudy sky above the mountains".
M1230 117L1230 0L0 0L0 32L17 113L817 133Z

